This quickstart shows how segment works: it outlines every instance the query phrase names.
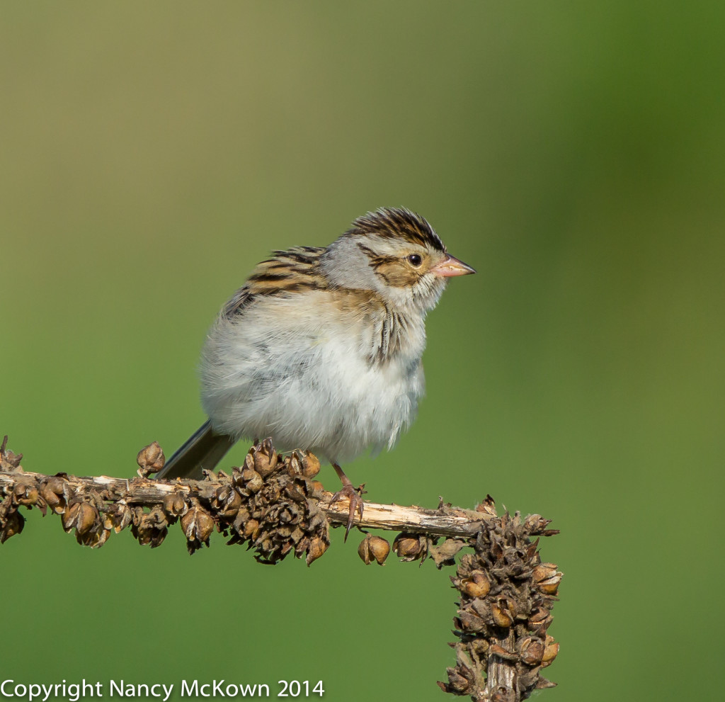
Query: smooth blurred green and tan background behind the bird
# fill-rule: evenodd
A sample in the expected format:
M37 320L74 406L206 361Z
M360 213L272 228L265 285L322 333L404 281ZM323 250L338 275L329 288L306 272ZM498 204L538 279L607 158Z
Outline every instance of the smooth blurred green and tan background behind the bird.
M0 434L131 476L202 422L196 361L269 249L381 205L478 269L428 318L428 395L372 500L554 519L546 700L713 699L723 616L725 6L17 3L0 10ZM228 461L239 461L244 447ZM328 466L322 479L334 487ZM323 680L444 699L451 570L0 549L0 678ZM689 669L697 674L688 674Z

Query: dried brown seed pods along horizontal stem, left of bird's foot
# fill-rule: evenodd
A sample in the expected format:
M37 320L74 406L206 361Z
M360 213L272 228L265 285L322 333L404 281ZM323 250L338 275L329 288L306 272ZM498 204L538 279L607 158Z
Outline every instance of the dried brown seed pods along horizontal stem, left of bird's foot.
M229 544L247 544L265 563L294 553L305 555L309 565L330 545L327 516L319 506L323 486L314 479L320 461L312 453L297 451L282 458L266 440L249 450L244 465L233 468L231 476L208 474L206 480L177 482L161 504L144 508L133 503L134 497L119 499L101 487L79 487L67 474L23 474L22 455L6 451L5 444L0 447L0 470L20 472L0 502L0 543L22 531L25 519L18 509L25 506L40 509L43 516L48 510L59 514L63 529L91 547L102 546L112 532L130 526L140 544L154 548L177 521L189 553L209 545L215 529L229 537ZM164 455L154 442L138 453L137 461L135 487L162 468Z

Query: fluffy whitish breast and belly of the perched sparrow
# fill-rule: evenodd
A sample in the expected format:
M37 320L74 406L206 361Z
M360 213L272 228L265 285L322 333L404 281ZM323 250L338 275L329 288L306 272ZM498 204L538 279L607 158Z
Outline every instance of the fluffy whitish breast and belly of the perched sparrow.
M423 318L368 291L264 297L204 344L202 405L216 431L342 462L392 447L423 395Z

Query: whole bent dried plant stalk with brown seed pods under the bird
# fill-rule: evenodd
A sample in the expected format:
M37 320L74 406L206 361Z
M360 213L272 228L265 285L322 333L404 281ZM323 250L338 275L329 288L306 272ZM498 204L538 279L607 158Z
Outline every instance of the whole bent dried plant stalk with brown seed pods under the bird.
M347 501L331 503L332 493L315 479L315 455L283 457L269 439L252 446L230 475L220 471L173 482L148 477L165 460L156 442L138 453L138 477L130 480L26 473L22 454L6 446L7 437L0 445L0 543L22 532L20 507L35 507L43 515L59 514L65 531L91 547L128 526L138 542L153 548L178 521L190 553L209 545L216 529L228 544L254 550L259 561L277 563L293 553L310 565L330 545L330 526L347 524ZM455 565L464 547L473 550L460 558L451 578L460 592L454 619L459 641L451 644L456 665L448 669L448 682L439 682L446 692L509 702L552 687L540 671L558 653L547 629L562 574L539 557L539 537L558 533L548 524L539 515L499 517L490 497L475 511L442 500L435 510L365 502L355 525L400 531L392 548L403 561L430 556L442 568ZM367 534L358 553L365 563L382 565L389 550L386 540Z

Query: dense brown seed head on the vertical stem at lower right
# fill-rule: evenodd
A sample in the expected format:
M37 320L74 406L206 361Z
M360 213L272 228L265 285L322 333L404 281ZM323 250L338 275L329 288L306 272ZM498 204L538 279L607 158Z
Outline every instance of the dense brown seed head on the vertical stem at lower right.
M506 698L503 690L486 689L486 672L497 660L515 670L512 699L553 687L540 671L559 650L547 629L562 574L539 557L538 537L558 533L547 524L538 514L521 519L506 513L484 522L474 552L461 558L451 578L460 592L453 620L460 641L451 644L457 663L447 669L448 682L439 682L444 691L474 700Z

